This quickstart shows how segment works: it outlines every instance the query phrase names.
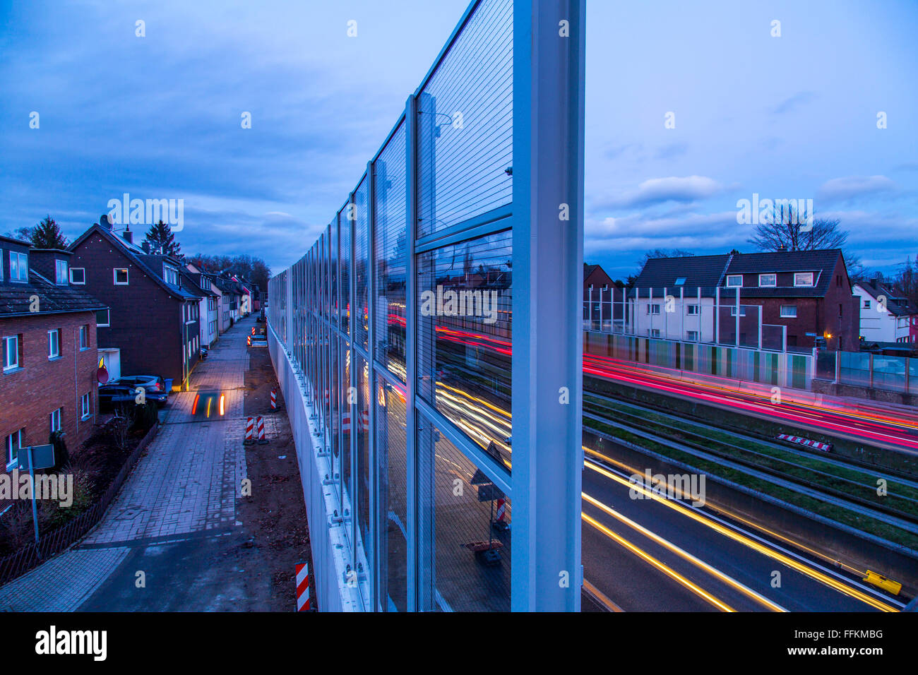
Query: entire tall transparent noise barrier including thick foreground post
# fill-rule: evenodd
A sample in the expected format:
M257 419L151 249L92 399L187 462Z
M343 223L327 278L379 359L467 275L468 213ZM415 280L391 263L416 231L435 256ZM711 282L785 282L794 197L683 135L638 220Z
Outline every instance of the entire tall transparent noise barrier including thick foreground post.
M471 3L269 282L320 606L579 608L583 21Z

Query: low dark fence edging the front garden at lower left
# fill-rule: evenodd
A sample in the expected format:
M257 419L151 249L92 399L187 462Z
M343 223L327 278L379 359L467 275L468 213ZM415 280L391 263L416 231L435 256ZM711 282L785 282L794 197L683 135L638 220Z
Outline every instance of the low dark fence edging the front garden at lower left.
M96 523L101 521L106 514L108 505L118 495L118 490L124 485L130 472L137 466L140 456L156 436L158 430L159 424L154 424L151 430L140 439L140 443L128 456L121 470L118 471L118 475L106 489L105 494L88 511L81 513L72 521L52 530L48 534L42 534L38 543L33 542L14 554L0 558L0 586L25 574L29 569L38 567L48 558L61 553L62 550L93 529Z

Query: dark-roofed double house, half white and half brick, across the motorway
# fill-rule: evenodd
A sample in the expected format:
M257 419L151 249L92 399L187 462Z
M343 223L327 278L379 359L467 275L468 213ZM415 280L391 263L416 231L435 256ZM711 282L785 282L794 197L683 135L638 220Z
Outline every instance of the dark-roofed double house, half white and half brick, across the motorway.
M654 331L660 337L711 341L713 306L720 298L722 343L733 342L737 323L744 343L743 333L758 331L760 313L762 324L787 327L789 348L810 349L820 337L829 350L858 349L859 303L840 249L651 258L634 287L630 295L639 305L633 312L637 334ZM648 299L651 289L656 295ZM739 321L730 307L737 290ZM676 298L674 311L660 311L665 295ZM756 305L761 309L746 317L746 309ZM654 321L656 328L647 329Z

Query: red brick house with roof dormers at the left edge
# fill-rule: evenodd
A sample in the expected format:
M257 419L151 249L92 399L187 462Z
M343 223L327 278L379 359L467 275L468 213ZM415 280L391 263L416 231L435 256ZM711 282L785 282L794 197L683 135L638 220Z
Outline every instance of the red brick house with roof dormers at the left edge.
M71 451L93 431L95 322L106 306L70 283L71 258L0 237L0 471L16 467L19 447L46 444L54 431Z

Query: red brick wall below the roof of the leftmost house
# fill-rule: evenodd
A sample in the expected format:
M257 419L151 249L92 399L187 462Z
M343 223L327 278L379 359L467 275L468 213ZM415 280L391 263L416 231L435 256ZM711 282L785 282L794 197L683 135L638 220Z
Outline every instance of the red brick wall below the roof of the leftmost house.
M80 326L89 348L80 351ZM48 331L61 329L61 356L48 359ZM63 408L61 428L71 453L93 431L97 403L95 312L0 319L0 335L20 334L20 370L0 375L0 471L6 470L6 436L19 429L23 444L48 443L50 413ZM92 417L82 421L80 398L90 394Z

